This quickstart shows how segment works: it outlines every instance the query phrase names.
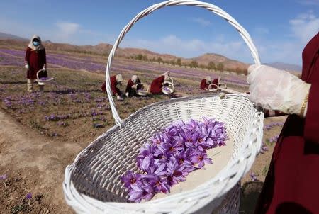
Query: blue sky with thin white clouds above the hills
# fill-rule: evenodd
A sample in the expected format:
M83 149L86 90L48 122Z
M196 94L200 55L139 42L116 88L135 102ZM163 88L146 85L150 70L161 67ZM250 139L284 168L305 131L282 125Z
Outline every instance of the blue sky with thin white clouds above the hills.
M319 0L206 0L233 16L252 36L262 62L301 64L301 52L319 30ZM25 38L96 45L111 43L142 9L161 1L0 1L0 32ZM169 6L140 20L121 47L142 47L181 57L206 52L252 62L237 31L194 6Z

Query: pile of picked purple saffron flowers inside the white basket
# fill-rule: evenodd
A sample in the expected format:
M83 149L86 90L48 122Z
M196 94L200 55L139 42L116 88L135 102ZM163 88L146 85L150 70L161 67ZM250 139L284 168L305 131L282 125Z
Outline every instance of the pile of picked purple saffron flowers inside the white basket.
M228 135L223 123L215 119L172 123L155 133L136 157L142 174L127 171L121 176L128 200L150 201L156 193L168 193L174 184L185 181L191 171L212 164L207 150L225 145Z

